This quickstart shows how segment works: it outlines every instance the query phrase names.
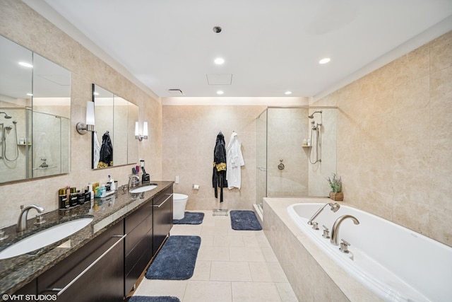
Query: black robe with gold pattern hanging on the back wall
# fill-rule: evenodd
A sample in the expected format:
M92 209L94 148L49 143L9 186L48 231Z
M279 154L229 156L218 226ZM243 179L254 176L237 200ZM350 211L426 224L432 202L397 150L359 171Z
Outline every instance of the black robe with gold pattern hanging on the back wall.
M218 187L220 187L220 202L223 202L223 187L227 187L227 180L225 137L221 132L217 135L215 149L213 149L212 185L215 188L215 198L218 198Z

